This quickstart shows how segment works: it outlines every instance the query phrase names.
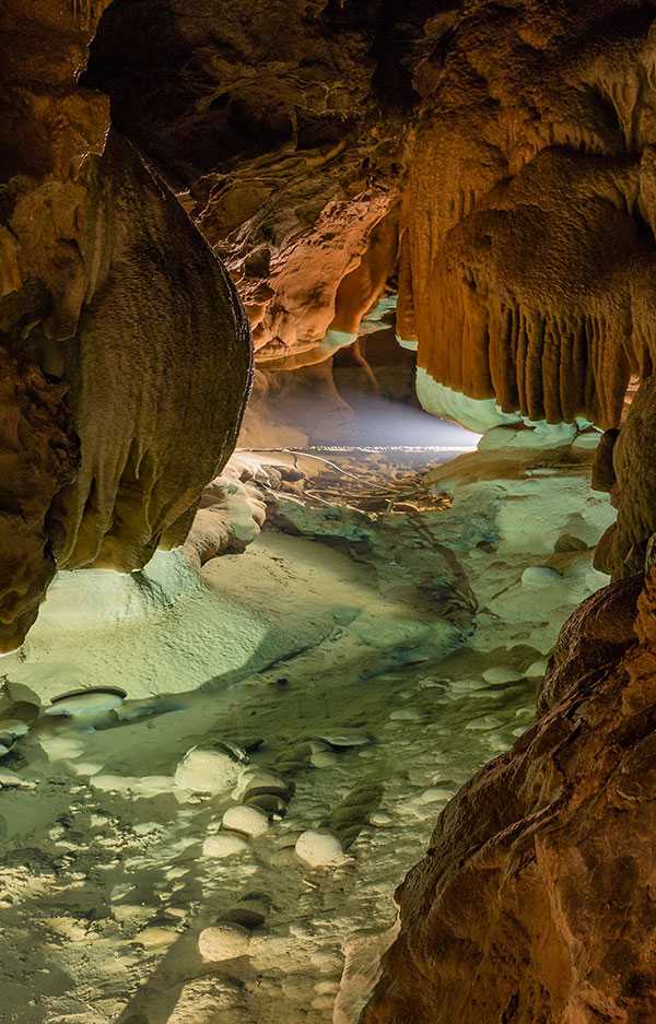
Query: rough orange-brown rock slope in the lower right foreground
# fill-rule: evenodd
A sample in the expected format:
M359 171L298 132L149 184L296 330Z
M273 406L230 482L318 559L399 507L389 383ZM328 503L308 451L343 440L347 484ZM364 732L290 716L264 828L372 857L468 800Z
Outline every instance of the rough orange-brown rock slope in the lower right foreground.
M653 1020L655 598L652 572L637 612L621 581L565 626L554 703L447 805L399 888L363 1024ZM583 664L605 610L614 657Z

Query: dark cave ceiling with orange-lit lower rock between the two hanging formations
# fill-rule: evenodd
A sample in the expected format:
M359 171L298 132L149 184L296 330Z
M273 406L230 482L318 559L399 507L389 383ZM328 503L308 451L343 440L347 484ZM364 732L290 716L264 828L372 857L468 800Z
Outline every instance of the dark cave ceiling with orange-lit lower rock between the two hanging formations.
M396 266L412 90L385 32L420 24L361 7L115 0L85 76L183 193L280 368L328 358L326 332L356 330Z

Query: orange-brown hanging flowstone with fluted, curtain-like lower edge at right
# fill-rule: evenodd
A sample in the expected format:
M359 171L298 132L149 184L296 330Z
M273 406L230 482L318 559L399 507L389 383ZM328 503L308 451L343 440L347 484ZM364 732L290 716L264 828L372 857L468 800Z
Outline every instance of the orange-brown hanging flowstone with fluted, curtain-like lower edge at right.
M616 426L649 372L653 17L490 0L427 23L398 329L434 380Z

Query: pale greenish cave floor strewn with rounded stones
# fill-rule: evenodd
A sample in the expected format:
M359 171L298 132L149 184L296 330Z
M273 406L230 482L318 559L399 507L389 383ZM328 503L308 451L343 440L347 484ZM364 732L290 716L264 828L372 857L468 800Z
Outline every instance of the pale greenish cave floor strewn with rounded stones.
M202 585L176 553L139 580L63 574L2 672L44 703L98 684L128 699L95 728L39 720L2 765L20 780L0 776L2 1021L355 1024L395 886L529 727L560 625L606 581L591 555L612 510L588 478L584 450L465 456L430 471L448 499L391 525L327 506L324 480L309 503L269 493L269 526ZM207 792L176 770L226 743L239 777L273 772L291 797L218 856L235 780ZM304 862L308 829L343 856ZM248 926L237 955L203 962L199 932L225 920Z

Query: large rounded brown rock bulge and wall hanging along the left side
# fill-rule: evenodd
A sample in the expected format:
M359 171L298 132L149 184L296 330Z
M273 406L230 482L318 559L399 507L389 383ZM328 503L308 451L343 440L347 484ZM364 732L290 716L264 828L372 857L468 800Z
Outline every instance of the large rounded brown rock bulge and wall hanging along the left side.
M181 543L249 378L226 273L78 84L103 8L0 12L0 651L56 564Z

